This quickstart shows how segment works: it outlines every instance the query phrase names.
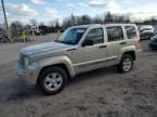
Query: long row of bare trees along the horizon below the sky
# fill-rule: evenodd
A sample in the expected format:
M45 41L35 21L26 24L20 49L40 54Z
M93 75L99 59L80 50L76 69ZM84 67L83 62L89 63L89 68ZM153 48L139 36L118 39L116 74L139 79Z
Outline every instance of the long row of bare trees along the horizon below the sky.
M113 14L110 12L104 13L102 15L96 15L94 17L89 15L81 15L76 16L71 14L70 16L65 17L62 23L59 21L52 21L49 25L45 25L45 23L38 24L36 20L31 20L28 25L36 25L39 26L47 32L56 32L58 30L63 31L68 27L76 26L76 25L87 25L87 24L108 24L108 23L135 23L137 25L157 25L156 17L149 17L149 20L145 21L134 21L132 22L129 14ZM21 22L13 22L11 23L11 28L15 31L16 28L25 28Z

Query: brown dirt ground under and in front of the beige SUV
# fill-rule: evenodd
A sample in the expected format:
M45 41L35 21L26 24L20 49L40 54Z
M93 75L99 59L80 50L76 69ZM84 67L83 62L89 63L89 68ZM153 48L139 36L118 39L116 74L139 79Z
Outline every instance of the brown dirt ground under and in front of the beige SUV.
M157 117L157 52L147 43L131 73L86 73L53 96L17 79L15 62L1 64L0 117Z

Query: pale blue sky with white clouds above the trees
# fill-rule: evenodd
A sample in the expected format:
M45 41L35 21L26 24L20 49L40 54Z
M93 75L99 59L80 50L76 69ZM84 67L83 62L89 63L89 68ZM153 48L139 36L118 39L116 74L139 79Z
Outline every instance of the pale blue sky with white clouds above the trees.
M145 20L157 16L157 0L3 0L9 23L20 21L38 23L60 21L64 17L87 14L102 15L105 12L130 14L131 18ZM3 22L0 4L0 24Z

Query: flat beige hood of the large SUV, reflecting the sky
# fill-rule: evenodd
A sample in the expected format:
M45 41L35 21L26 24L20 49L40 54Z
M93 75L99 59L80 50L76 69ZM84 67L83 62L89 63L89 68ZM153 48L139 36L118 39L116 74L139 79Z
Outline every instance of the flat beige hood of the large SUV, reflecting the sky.
M36 46L31 46L27 48L23 48L21 50L21 53L29 56L29 55L38 55L38 54L44 54L44 53L53 53L53 52L59 52L59 51L65 51L67 49L71 49L73 46L70 44L63 44L59 42L47 42L47 43L41 43L41 44L36 44Z

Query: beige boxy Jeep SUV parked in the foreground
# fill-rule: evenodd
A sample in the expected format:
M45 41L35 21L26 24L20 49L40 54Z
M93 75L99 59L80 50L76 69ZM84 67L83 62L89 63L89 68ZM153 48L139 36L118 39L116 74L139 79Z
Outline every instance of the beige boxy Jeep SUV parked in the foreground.
M59 93L69 79L93 69L132 69L140 51L133 24L83 25L68 28L58 40L21 50L16 72L46 94Z

